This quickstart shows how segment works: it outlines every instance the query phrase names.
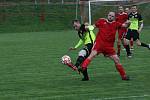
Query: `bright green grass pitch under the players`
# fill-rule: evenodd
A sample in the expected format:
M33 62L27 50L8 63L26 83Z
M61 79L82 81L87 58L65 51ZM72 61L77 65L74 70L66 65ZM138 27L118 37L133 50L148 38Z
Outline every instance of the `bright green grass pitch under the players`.
M150 29L141 41L150 43ZM111 60L97 56L89 65L90 81L60 63L78 36L74 31L0 34L0 100L150 100L150 50L134 45L134 56L121 52L131 76L122 81Z

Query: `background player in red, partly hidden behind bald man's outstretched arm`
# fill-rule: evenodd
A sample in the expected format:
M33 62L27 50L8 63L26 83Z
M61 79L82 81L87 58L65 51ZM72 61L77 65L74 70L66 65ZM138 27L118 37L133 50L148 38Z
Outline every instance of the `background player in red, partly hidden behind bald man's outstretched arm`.
M128 14L124 12L123 6L119 6L118 11L119 12L116 14L116 21L123 24L128 20ZM124 45L126 32L127 32L127 28L125 27L118 28L118 42L117 42L117 48L118 48L117 55L118 56L120 56L121 42Z

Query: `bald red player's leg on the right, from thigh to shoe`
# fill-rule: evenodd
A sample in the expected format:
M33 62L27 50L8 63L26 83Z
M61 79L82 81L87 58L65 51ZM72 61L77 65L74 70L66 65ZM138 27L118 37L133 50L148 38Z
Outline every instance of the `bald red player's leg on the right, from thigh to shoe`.
M122 64L120 63L119 57L116 54L109 56L109 57L114 61L116 69L119 72L122 80L129 80L129 77L126 75L126 72L125 72Z

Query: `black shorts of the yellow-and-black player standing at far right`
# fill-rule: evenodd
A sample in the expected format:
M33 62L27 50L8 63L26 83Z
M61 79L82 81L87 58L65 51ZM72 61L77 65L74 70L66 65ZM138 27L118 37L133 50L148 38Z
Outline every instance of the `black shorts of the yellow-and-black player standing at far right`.
M128 32L126 34L126 39L131 40L131 38L133 38L133 41L139 39L139 33L137 30L128 29Z

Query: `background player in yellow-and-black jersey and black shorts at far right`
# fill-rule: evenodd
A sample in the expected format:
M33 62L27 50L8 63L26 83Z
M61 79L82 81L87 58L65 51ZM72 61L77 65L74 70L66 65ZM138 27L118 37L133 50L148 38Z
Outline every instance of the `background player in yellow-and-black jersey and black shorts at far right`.
M141 14L137 12L137 6L133 5L131 7L131 13L128 15L128 20L130 21L130 26L128 28L128 32L126 34L126 52L128 57L131 56L131 51L129 47L129 40L133 37L133 40L136 41L138 46L146 47L150 49L150 44L145 44L140 41L139 35L143 28L143 19Z

